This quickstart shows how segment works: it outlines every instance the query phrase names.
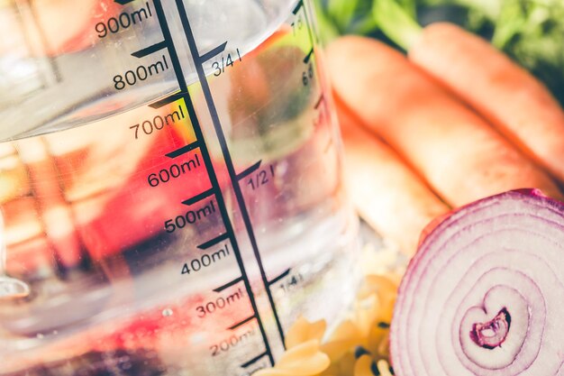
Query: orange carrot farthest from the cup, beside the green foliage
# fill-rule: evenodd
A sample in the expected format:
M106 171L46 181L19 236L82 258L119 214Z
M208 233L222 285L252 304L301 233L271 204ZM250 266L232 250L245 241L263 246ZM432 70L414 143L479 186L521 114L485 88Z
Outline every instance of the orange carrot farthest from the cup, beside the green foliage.
M487 41L451 23L423 29L409 59L564 181L564 111L541 82Z

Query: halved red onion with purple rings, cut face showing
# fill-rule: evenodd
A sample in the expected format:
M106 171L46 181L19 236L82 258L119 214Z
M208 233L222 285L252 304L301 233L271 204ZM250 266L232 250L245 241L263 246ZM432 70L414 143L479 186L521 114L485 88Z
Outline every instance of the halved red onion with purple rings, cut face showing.
M564 375L564 204L518 190L435 227L398 292L398 376Z

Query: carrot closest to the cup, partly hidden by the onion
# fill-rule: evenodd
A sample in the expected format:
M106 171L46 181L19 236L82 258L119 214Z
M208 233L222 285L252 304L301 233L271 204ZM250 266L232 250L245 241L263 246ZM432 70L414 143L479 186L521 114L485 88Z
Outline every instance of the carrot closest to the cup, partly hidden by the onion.
M407 168L396 152L362 129L348 108L338 103L337 112L351 201L368 225L413 255L423 228L448 212L449 206Z

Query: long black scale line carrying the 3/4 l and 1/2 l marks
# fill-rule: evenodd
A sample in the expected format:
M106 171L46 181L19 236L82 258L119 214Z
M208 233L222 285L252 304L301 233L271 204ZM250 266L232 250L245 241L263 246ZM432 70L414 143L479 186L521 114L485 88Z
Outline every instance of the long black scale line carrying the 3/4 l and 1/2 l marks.
M286 347L285 338L284 338L284 330L282 328L282 323L280 322L280 318L278 317L276 303L275 303L274 298L272 296L272 291L270 290L270 287L268 286L268 278L267 278L267 275L266 275L266 272L264 270L264 266L262 264L262 260L261 260L261 257L260 257L257 239L255 237L254 231L252 229L252 225L250 223L250 216L249 216L249 212L247 211L245 199L244 199L242 192L241 192L241 185L239 184L239 180L237 179L237 173L235 172L235 168L233 166L232 156L231 156L231 153L229 151L227 141L225 140L225 135L223 134L222 124L221 124L221 121L219 119L219 115L217 114L217 109L215 108L214 97L212 96L212 91L209 87L207 79L205 78L205 70L204 70L203 63L206 60L209 60L209 53L206 53L204 55L206 60L203 60L202 57L200 56L199 52L198 52L197 45L196 45L196 39L194 37L194 33L192 32L192 27L190 26L190 22L188 20L187 14L186 14L186 8L184 6L184 3L183 3L182 0L176 0L176 3L177 3L178 14L180 16L180 20L181 20L182 26L184 28L186 41L188 43L190 53L192 54L192 57L195 60L196 72L198 74L198 78L199 78L200 84L202 86L202 91L203 91L204 96L205 96L205 102L207 104L207 108L208 108L208 111L210 113L210 116L212 117L212 122L214 124L215 134L217 136L217 139L218 139L220 146L221 146L221 149L222 149L223 160L225 161L225 166L227 167L229 177L232 181L233 192L235 193L235 197L237 199L237 204L238 204L238 206L241 210L241 218L243 220L243 223L245 224L245 229L247 231L247 234L249 235L250 245L252 247L252 251L254 252L255 259L256 259L258 266L259 266L260 277L262 279L265 290L267 292L268 302L270 304L270 307L271 307L273 315L274 315L274 319L275 319L276 324L277 324L278 335L280 335L280 339L282 340L282 344L284 345L284 347ZM220 46L220 47L224 48L224 46L225 46L225 43L223 43L223 45ZM241 267L242 267L242 265L241 265ZM259 319L258 315L257 315L257 319ZM272 357L272 354L269 354L269 356Z

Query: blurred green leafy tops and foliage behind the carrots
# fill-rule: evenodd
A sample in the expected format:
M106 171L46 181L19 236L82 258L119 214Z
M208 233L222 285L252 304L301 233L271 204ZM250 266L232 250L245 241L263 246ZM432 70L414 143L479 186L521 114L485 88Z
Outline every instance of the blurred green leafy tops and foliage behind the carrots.
M422 26L457 23L504 50L564 105L564 0L314 0L314 4L324 42L353 33L401 50L387 38L391 25L400 33L409 27L396 22L397 11L403 20L406 15Z

